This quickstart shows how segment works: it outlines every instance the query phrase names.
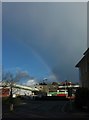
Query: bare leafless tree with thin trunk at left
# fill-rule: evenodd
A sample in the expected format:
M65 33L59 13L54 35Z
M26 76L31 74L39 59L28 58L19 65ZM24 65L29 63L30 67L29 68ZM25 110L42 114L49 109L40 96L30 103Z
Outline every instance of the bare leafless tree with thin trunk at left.
M11 72L3 72L2 73L2 86L3 87L10 87L10 111L13 111L13 87L14 85L19 82L21 79L29 78L29 74L26 71L18 70L16 74Z

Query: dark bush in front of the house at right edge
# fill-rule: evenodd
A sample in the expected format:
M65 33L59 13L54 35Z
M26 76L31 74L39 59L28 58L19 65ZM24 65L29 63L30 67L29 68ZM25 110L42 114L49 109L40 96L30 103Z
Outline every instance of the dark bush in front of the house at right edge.
M78 88L75 93L75 107L82 109L83 106L89 108L89 90L87 88Z

